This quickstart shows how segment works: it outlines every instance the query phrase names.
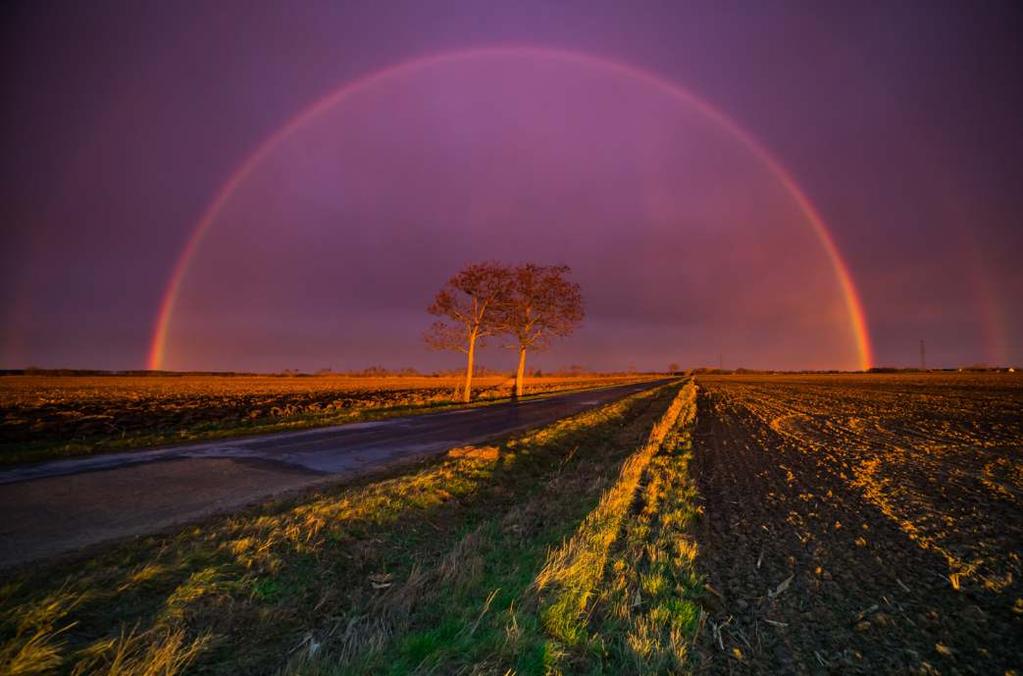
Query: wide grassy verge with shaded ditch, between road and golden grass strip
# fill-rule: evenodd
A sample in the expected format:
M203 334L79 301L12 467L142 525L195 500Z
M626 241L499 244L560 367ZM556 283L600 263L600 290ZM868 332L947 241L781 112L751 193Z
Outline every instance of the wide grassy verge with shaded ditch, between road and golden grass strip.
M676 391L26 570L0 589L0 671L540 671L547 552L646 448Z

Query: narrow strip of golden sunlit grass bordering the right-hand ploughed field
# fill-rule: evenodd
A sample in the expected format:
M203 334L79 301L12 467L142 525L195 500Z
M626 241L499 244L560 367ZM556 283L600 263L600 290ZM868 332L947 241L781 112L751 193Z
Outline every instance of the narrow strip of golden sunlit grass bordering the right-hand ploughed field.
M548 667L595 663L651 673L684 666L700 606L686 468L696 387L687 384L576 533L537 576ZM575 664L579 667L580 664Z

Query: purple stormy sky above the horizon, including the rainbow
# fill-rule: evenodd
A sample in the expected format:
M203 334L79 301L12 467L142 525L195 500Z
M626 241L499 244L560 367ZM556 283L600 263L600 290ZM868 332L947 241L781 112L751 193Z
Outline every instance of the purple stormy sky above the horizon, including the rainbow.
M1018 3L0 11L0 368L454 368L482 260L546 369L1023 364Z

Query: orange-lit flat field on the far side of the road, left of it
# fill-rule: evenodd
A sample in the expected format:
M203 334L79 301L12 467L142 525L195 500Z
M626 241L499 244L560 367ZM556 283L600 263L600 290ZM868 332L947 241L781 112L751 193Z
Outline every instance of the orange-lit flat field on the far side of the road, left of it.
M532 377L526 395L608 387L634 375ZM513 380L477 378L474 398ZM453 405L459 376L5 375L0 464L341 424Z

